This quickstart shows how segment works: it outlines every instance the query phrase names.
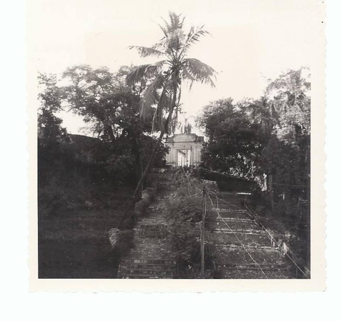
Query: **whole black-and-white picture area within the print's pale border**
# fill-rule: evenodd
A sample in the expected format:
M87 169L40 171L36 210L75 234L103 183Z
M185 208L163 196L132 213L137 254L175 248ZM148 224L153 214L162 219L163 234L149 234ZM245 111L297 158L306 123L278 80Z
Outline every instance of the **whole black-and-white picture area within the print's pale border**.
M322 2L30 10L38 279L311 279Z

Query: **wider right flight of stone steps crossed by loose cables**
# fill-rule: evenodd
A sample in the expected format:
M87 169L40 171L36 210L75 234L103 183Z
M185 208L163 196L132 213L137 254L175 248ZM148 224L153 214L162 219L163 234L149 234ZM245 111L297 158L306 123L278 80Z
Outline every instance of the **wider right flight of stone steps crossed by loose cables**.
M222 278L296 278L296 270L273 245L254 217L241 209L243 196L219 194L208 214L216 216L213 239L215 265ZM264 273L263 273L263 272Z

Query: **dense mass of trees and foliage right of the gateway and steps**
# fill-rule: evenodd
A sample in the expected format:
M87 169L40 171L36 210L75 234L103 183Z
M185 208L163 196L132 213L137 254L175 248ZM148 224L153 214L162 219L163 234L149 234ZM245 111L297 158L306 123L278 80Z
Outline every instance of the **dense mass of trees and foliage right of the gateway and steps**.
M307 68L290 70L269 81L260 99L211 102L197 119L208 136L203 163L258 181L263 190L253 204L258 214L272 216L272 222L285 223L284 229L305 239L306 254L310 230L309 77Z

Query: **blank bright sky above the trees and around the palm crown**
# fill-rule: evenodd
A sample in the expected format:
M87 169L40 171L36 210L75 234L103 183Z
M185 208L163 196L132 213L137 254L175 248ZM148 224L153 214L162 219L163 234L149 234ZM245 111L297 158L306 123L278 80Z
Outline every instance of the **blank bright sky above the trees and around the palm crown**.
M216 88L197 84L182 89L187 115L196 115L211 100L259 97L266 79L288 68L310 66L314 0L36 0L32 1L38 69L61 73L66 67L148 63L129 45L150 46L161 37L158 23L168 11L186 16L187 31L205 24L211 36L193 46L190 57L218 71ZM31 19L33 19L31 17ZM157 58L156 58L157 59ZM62 114L70 133L84 126L79 117Z

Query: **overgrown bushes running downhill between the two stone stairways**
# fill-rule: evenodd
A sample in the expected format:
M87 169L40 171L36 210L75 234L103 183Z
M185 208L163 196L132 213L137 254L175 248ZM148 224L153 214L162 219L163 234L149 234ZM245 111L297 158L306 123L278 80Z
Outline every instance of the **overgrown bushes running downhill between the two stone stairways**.
M178 265L178 278L200 278L201 224L204 211L203 191L212 189L208 184L182 169L173 175L173 193L166 205L169 218L170 241ZM205 278L216 278L210 249L213 246L209 231L213 231L214 218L205 214Z

